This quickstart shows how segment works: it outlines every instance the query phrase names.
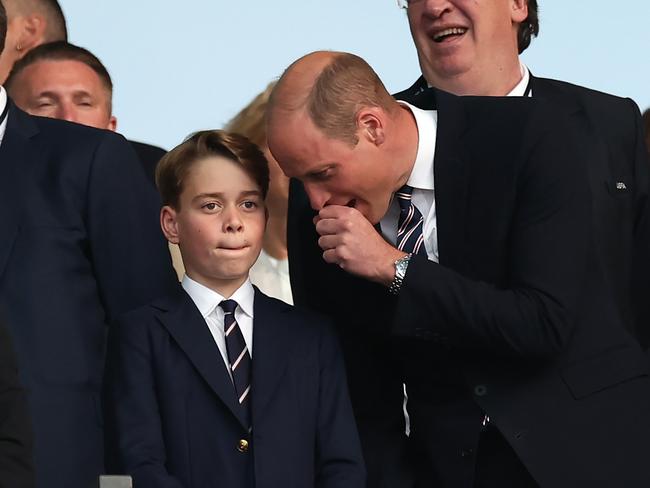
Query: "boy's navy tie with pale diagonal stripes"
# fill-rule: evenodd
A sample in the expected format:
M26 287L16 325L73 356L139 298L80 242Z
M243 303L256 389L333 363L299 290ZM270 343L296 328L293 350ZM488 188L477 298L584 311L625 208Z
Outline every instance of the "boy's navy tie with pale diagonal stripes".
M235 319L237 302L224 300L219 303L219 306L224 311L223 326L226 334L226 350L228 351L228 362L235 393L250 427L251 355Z

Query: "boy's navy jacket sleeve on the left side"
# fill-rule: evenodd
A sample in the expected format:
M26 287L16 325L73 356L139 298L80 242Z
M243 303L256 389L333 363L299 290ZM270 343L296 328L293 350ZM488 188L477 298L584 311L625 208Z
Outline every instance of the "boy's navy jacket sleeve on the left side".
M104 375L106 469L136 486L183 488L165 469L165 444L155 392L146 317L129 314L108 335Z

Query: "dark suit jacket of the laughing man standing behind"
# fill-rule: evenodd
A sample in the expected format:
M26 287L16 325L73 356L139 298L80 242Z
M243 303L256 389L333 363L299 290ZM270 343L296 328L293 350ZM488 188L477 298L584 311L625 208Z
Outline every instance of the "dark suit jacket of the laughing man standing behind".
M596 246L626 328L650 347L650 161L636 104L563 81L531 76L534 98L569 116L581 133L593 198ZM411 100L420 78L396 98Z

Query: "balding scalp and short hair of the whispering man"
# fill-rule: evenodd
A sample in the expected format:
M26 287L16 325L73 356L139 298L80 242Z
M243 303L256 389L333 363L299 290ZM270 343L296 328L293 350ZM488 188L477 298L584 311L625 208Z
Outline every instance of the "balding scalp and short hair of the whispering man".
M356 115L362 107L392 113L397 105L373 69L359 56L317 51L289 66L269 101L275 115L304 110L323 134L356 144Z

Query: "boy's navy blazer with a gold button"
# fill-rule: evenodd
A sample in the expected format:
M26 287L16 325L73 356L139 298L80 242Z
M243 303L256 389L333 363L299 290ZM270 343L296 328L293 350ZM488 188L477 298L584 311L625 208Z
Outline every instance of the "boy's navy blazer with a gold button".
M253 344L249 434L221 354L182 288L123 317L105 376L112 469L141 488L364 486L334 334L256 290Z

